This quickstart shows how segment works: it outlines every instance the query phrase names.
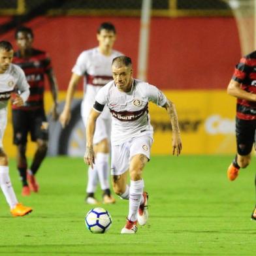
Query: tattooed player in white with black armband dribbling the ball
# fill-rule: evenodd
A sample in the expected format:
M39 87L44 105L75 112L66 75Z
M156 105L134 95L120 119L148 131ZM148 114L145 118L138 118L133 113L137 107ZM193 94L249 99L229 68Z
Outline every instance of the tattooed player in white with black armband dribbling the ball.
M135 234L136 223L148 221L148 193L143 191L142 172L150 160L153 128L150 125L148 102L167 110L172 125L172 153L180 155L182 141L178 116L174 104L165 95L146 82L133 79L131 58L119 56L113 59L114 81L108 82L95 97L95 103L86 127L86 153L84 161L93 168L93 134L95 123L106 105L112 114L111 174L114 191L122 199L129 199L127 223L121 234ZM130 186L127 176L130 176Z

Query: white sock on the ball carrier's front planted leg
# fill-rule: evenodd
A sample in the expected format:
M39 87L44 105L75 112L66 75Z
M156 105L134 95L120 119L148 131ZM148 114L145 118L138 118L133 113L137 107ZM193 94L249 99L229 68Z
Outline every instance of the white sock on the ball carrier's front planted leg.
M131 180L130 195L129 195L129 214L128 219L131 221L137 220L138 208L140 206L144 182L143 180Z

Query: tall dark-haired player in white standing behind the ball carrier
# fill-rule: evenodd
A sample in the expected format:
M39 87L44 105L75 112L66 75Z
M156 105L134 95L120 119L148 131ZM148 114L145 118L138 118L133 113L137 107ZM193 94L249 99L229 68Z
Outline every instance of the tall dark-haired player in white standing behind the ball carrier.
M85 50L80 54L72 69L72 76L67 89L66 103L59 121L65 127L71 118L71 101L74 91L78 86L82 76L84 76L84 99L82 101L81 113L84 125L87 126L89 110L93 106L97 91L107 82L112 80L111 63L114 57L120 56L120 52L113 50L116 40L116 29L113 24L104 22L97 31L99 46ZM95 199L95 191L98 182L103 190L103 203L112 204L114 197L110 194L110 184L108 182L109 168L109 137L111 128L111 116L108 109L104 108L103 113L97 120L95 136L93 138L94 150L96 153L95 168L88 168L88 185L86 202L88 204L99 204Z

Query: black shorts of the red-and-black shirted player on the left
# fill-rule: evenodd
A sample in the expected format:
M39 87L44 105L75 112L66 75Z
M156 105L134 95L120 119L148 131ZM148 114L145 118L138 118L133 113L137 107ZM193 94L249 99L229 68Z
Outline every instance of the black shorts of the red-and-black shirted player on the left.
M27 143L27 135L31 140L48 140L48 122L43 109L12 110L13 143L15 145Z

